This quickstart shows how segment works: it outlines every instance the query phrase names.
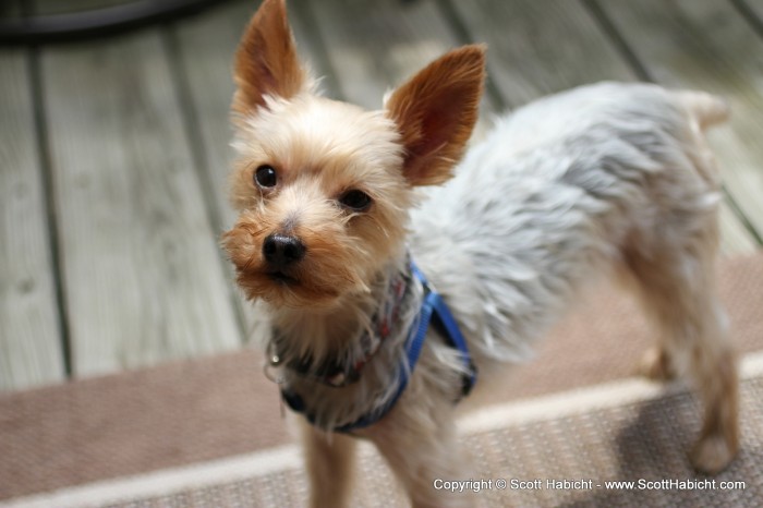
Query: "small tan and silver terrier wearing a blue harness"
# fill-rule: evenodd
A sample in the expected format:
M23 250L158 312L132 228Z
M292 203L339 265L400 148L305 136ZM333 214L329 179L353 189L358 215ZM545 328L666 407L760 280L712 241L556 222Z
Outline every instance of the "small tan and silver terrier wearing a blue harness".
M694 467L720 471L738 449L736 360L713 276L718 177L703 136L725 104L585 86L500 119L459 164L484 53L448 52L368 112L318 95L283 0L263 2L238 49L240 215L222 242L266 310L267 370L310 421L313 506L348 501L356 436L414 506L468 505L432 483L470 477L453 402L475 366L489 384L491 365L520 356L609 266L657 326L646 373L697 384ZM437 294L450 311L435 306L427 328L422 309Z

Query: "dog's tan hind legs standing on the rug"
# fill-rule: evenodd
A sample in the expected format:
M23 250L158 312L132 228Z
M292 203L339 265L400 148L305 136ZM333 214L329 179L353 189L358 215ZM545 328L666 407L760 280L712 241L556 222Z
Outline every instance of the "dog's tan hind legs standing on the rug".
M645 371L657 378L688 376L695 384L704 421L691 459L698 470L716 473L739 447L738 378L725 312L716 295L715 217L704 215L698 220L699 227L682 240L668 232L663 241L653 237L632 242L623 250L623 261L658 329L658 343L647 354L651 363Z

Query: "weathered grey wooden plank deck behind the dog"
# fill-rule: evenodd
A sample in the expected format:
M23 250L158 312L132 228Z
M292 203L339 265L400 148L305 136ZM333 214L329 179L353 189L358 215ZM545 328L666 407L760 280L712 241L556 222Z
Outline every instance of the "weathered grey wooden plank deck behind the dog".
M37 12L104 3L35 2ZM218 238L233 218L230 62L257 3L225 2L112 38L0 48L0 389L245 343L249 311ZM326 93L368 108L448 48L487 43L476 137L495 112L600 80L727 97L732 121L712 134L725 180L723 252L760 247L763 0L290 0L289 9Z

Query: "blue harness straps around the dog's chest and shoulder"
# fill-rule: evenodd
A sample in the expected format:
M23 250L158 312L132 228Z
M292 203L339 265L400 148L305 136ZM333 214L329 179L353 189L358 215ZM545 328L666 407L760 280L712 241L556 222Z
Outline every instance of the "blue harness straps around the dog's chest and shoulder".
M405 340L405 358L398 367L397 391L384 406L362 415L354 422L336 427L334 432L351 433L352 431L365 428L382 420L395 407L400 396L405 390L410 375L413 373L419 362L419 356L421 355L429 324L433 324L437 328L449 346L456 348L461 353L461 358L467 365L468 374L464 374L462 378L461 397L468 396L476 383L476 366L472 363L469 348L467 347L467 340L463 338L450 309L448 309L443 297L429 286L424 274L422 274L413 262L411 262L411 271L422 283L424 288L424 298L422 300L421 311L419 312L419 319L416 319L416 326L411 328L408 339ZM302 397L287 388L281 388L281 397L293 411L303 413L307 421L313 424L315 423L315 415L306 413L306 407Z

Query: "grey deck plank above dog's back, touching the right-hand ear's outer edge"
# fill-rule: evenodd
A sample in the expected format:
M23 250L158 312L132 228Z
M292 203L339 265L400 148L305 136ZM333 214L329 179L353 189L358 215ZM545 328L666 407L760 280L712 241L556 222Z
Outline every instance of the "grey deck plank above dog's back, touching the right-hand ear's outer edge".
M603 80L637 81L578 2L452 1L471 37L488 44L488 64L513 106Z

